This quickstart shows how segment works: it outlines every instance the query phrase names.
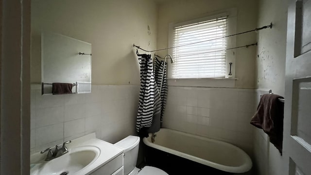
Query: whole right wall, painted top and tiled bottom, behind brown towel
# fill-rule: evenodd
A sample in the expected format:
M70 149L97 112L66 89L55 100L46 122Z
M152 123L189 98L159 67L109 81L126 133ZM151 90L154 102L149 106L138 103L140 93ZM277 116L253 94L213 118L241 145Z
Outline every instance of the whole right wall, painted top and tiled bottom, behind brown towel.
M258 27L272 22L273 28L258 32L256 58L257 100L269 89L284 96L287 3L283 0L259 0ZM262 129L254 128L254 155L258 175L283 175L282 156Z

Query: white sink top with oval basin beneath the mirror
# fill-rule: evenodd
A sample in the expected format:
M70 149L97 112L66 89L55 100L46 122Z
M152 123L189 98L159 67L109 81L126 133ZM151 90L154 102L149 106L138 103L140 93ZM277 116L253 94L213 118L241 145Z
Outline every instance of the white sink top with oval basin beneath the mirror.
M90 175L123 153L123 149L95 137L95 133L72 140L68 153L45 161L47 154L36 152L30 158L30 175Z

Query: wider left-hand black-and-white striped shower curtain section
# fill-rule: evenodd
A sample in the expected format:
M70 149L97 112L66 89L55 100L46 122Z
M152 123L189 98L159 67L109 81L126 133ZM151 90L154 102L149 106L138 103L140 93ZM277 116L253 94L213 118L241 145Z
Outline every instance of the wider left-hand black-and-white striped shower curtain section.
M140 91L136 130L139 133L140 130L146 131L146 128L151 127L153 117L160 114L155 110L160 105L160 93L155 83L151 55L139 54L138 56L140 56L138 58L140 64ZM157 128L159 129L159 126L155 127L155 129Z

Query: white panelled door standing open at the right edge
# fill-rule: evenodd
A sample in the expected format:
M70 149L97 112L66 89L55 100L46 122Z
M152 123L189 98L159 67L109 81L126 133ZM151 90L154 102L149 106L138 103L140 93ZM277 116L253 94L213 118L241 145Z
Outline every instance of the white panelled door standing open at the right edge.
M285 175L311 175L311 0L289 1L285 86Z

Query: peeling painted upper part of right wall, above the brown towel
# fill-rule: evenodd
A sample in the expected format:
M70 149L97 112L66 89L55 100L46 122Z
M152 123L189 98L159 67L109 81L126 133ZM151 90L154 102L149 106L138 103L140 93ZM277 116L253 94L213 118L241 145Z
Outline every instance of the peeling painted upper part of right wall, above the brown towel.
M256 58L257 88L271 89L284 95L287 3L282 0L259 0L257 26L272 22L273 28L258 32Z

